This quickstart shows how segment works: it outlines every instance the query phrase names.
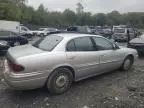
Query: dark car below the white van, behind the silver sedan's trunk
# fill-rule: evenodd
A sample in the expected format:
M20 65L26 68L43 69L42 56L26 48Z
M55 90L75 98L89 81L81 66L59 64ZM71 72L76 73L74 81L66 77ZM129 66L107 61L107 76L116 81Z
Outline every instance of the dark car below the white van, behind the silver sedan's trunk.
M11 31L0 31L0 40L6 41L10 46L24 45L28 43L28 40L23 36Z

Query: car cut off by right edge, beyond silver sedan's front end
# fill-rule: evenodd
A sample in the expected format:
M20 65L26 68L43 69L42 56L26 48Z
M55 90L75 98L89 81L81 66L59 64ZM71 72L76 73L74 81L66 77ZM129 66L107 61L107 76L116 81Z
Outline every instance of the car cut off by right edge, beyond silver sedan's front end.
M139 38L132 39L129 42L128 47L136 49L139 55L144 55L144 34Z

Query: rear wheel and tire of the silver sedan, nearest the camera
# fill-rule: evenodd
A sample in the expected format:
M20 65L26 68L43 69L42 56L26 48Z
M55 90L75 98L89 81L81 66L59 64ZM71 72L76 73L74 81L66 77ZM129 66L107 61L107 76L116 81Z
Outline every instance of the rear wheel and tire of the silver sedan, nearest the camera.
M73 74L69 69L58 68L48 78L46 87L52 94L61 94L71 87L72 81Z

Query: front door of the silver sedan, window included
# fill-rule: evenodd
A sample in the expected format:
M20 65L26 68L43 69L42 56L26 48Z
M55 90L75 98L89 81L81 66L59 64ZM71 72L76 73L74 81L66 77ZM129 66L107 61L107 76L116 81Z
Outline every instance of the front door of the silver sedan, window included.
M114 48L114 45L109 40L102 37L93 37L96 43L97 53L100 55L100 73L108 72L117 69L122 64L122 52L120 49Z

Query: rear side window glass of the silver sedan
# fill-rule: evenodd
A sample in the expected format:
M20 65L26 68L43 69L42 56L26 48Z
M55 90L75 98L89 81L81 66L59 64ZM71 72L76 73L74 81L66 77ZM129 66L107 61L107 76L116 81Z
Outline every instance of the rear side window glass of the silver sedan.
M95 47L89 37L80 37L73 39L68 43L69 48L74 51L95 51Z

